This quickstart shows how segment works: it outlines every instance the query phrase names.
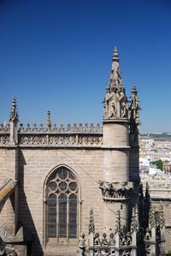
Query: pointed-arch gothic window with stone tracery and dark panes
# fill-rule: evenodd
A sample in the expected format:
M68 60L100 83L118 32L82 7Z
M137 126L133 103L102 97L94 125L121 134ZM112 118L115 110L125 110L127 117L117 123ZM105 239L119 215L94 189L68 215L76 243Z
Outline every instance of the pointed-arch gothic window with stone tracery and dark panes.
M78 184L66 167L53 172L46 185L47 236L62 239L77 238Z

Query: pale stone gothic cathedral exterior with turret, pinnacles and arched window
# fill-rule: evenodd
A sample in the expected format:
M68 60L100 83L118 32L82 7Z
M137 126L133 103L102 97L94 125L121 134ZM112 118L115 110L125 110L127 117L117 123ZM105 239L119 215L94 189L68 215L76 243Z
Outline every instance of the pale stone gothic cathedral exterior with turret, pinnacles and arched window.
M139 180L139 101L117 49L103 126L0 126L0 255L165 255L162 205Z

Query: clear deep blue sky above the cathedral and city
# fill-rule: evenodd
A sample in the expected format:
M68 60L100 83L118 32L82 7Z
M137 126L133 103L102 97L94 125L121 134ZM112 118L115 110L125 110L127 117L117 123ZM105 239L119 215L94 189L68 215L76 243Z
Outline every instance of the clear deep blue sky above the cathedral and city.
M141 131L171 131L170 0L0 0L0 122L102 122L114 46Z

